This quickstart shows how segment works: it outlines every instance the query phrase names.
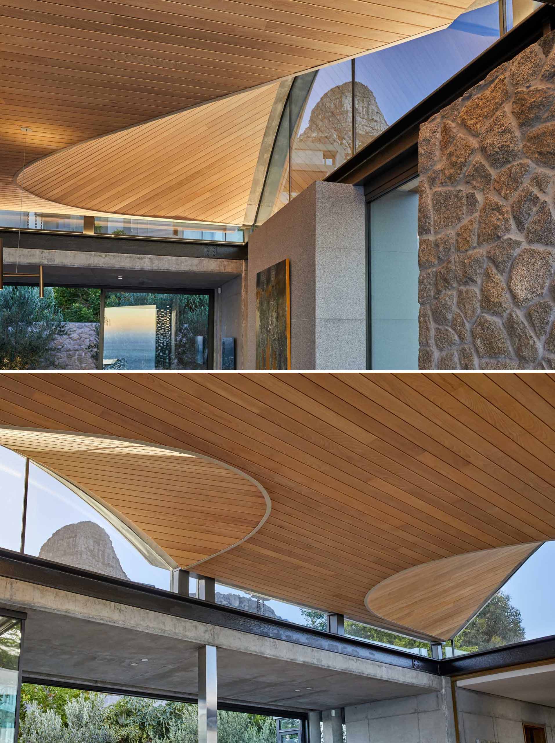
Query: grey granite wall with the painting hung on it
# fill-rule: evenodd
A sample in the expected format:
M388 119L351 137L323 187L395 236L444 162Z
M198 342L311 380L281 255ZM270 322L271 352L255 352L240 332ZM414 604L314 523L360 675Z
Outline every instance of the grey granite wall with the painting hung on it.
M256 359L256 273L291 270L291 369L366 368L363 189L318 181L249 239L247 369Z

